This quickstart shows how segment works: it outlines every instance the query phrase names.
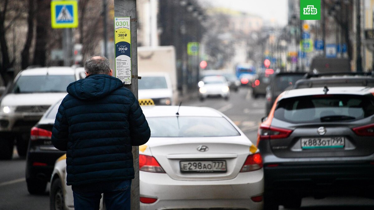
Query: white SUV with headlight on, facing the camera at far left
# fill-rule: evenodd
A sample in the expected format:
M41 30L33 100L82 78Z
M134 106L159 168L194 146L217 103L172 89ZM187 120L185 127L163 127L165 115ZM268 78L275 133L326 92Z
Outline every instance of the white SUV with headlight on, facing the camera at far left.
M50 105L64 98L68 84L84 77L83 68L71 67L19 72L0 99L0 159L12 158L14 143L19 156L24 157L31 127Z

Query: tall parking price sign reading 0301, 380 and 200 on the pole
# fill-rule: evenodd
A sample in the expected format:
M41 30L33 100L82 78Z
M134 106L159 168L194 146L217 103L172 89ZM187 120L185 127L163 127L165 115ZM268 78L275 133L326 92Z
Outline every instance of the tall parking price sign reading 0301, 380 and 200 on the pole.
M114 17L114 75L123 84L131 84L130 17Z

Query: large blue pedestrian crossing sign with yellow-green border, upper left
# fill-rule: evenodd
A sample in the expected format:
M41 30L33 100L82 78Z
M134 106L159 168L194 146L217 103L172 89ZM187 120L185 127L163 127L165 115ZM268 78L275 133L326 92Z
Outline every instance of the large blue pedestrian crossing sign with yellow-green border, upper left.
M78 27L78 3L76 0L50 2L52 28Z

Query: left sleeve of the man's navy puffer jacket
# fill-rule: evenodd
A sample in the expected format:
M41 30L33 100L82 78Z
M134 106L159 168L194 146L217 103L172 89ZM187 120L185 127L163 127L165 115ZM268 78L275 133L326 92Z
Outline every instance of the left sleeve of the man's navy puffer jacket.
M58 107L58 112L56 114L55 124L52 128L52 144L55 148L66 151L68 143L68 121L65 116L65 109L63 106L64 100L62 100L60 106Z

